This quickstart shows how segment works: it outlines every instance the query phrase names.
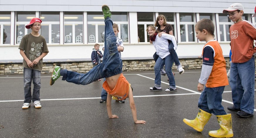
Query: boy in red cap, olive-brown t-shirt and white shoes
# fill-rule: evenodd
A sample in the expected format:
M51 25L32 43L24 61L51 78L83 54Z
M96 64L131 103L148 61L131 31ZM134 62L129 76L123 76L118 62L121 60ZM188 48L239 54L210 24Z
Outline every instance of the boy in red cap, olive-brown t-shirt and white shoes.
M41 88L41 71L43 68L43 57L48 54L48 48L45 38L39 34L42 20L39 18L31 19L26 25L27 29L32 30L31 33L24 35L21 40L20 54L23 57L23 76L24 76L24 104L22 109L30 107L31 100L35 108L41 108L40 104L40 88ZM33 80L33 95L31 95L31 82Z

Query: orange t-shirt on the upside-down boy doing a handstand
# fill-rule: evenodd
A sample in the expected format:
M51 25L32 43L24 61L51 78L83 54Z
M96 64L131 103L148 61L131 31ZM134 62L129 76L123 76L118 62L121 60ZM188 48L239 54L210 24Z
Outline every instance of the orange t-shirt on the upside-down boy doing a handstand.
M108 94L114 96L118 100L124 100L128 97L128 92L130 88L129 82L123 76L123 73L119 76L116 86L113 90L108 87L107 81L105 81L102 87L107 91Z

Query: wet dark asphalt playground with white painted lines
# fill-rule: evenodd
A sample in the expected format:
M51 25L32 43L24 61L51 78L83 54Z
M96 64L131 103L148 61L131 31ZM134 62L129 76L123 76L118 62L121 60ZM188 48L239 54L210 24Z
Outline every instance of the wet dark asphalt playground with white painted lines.
M199 108L197 91L201 70L185 70L175 75L178 91L150 91L154 86L154 71L123 72L133 87L138 120L135 124L129 100L118 103L112 100L112 113L117 119L109 119L106 103L100 103L103 81L89 85L77 85L59 78L50 86L51 74L41 75L40 98L42 108L22 109L23 74L0 75L0 138L208 138L208 131L218 130L212 115L202 132L186 125L184 118L194 119ZM103 79L102 79L103 80ZM162 77L162 89L168 88L167 76ZM33 89L33 85L32 85ZM232 106L231 89L226 86L222 105L232 114L234 138L256 136L256 116L240 118L227 110ZM256 111L256 110L255 110Z

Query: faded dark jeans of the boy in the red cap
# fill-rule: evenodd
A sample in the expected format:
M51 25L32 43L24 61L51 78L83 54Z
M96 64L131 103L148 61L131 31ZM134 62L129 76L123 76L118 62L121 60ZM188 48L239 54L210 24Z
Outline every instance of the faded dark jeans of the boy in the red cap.
M24 76L24 103L31 103L38 100L40 101L40 88L41 88L41 71L29 68L23 68ZM33 95L31 95L31 82L33 80Z

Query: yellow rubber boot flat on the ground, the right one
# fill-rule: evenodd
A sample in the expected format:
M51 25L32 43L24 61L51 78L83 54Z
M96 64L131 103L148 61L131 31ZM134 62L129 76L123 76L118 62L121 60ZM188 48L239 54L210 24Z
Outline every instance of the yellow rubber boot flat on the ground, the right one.
M216 115L221 128L219 130L209 131L211 137L233 137L231 114Z

